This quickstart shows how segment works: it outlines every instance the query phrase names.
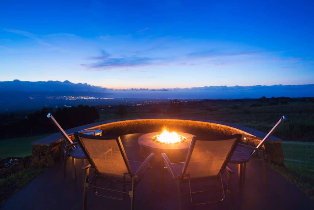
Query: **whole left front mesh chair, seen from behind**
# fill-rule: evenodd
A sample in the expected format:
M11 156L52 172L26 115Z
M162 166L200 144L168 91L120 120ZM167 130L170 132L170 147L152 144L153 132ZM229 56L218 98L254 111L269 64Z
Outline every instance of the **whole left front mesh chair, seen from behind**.
M150 153L144 162L129 161L124 151L119 136L90 136L81 133L74 133L76 140L84 152L88 163L83 166L84 192L83 209L86 209L86 191L92 187L97 196L123 200L125 195L131 197L131 209L134 203L134 190L147 170L152 169L152 157ZM94 171L94 176L89 180L89 171ZM136 171L136 173L133 173ZM152 175L154 190L154 171ZM105 183L116 183L122 186L121 189L96 185L97 180L104 180ZM115 192L120 197L108 194L100 194L98 190L104 192Z

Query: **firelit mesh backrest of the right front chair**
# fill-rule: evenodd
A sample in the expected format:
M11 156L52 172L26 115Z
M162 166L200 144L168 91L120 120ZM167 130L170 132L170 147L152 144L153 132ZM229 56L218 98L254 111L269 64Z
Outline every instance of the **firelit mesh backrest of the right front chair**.
M241 134L226 136L221 140L207 140L206 137L194 136L187 153L182 177L189 174L191 179L214 177L225 170Z

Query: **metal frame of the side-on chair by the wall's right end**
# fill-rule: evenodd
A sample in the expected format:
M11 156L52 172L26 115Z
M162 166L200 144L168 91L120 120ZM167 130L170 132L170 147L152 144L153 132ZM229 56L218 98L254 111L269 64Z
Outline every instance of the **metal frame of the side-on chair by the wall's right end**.
M259 138L257 136L242 134L243 137L260 140L261 142L257 146L249 146L249 145L241 144L241 143L238 144L238 146L252 149L252 152L250 154L250 159L254 158L252 156L253 156L253 154L255 154L255 152L259 153L260 158L254 158L254 159L262 163L262 167L263 167L263 183L264 184L267 184L267 177L266 177L265 150L262 148L262 146L273 135L275 130L278 128L278 126L281 123L283 123L284 121L286 121L286 120L287 120L286 117L282 116L279 119L279 121L273 126L273 128L268 132L268 134L266 134L266 136L264 138ZM268 154L267 159L268 159L269 166L271 166L271 156L270 156L270 154ZM237 164L237 163L235 163L235 164ZM240 189L241 188L241 184L243 184L245 182L245 170L246 170L246 163L238 163L239 191L241 191L241 189Z

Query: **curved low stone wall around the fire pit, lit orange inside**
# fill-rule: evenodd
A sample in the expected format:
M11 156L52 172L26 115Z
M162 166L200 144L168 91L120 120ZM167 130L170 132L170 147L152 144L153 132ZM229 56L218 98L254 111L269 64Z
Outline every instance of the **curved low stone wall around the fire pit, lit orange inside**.
M207 136L208 139L217 139L225 135L232 135L233 133L255 135L262 138L266 135L263 132L230 123L169 118L108 120L79 126L77 128L66 130L66 132L69 134L70 138L74 140L73 133L82 129L101 129L103 131L102 135L126 135L132 133L156 132L161 131L163 128L194 135ZM31 165L37 167L51 167L55 162L60 161L62 141L61 134L57 133L33 142ZM259 140L242 139L242 143L257 146ZM282 164L284 162L280 139L271 137L266 143L266 153L271 155L274 163Z

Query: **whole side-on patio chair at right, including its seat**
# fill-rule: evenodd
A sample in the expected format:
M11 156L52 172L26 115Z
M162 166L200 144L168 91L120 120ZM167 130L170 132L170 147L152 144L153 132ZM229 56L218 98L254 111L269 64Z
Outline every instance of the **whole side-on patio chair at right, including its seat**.
M245 182L246 163L250 160L251 157L255 156L254 155L255 152L259 153L259 158L255 158L255 159L262 163L262 167L263 167L263 182L264 182L264 184L267 183L266 166L265 166L265 150L262 148L262 146L268 141L269 137L271 135L273 135L275 130L284 121L286 121L286 117L282 116L279 119L279 121L273 126L273 128L268 132L268 134L264 138L259 138L259 137L256 137L256 136L242 134L242 137L257 139L257 140L260 140L260 143L256 147L240 143L237 146L234 154L230 158L229 163L238 164L239 191L241 191L241 184L243 184ZM268 162L270 164L271 163L271 156L270 156L270 154L268 154L267 159L268 159Z

